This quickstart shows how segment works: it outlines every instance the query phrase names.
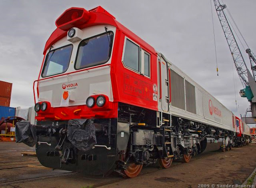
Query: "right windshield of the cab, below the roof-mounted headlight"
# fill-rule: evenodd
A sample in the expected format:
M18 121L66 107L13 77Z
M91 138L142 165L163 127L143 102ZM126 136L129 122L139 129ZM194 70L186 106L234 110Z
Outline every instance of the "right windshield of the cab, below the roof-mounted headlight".
M100 34L83 40L78 46L76 69L106 63L111 54L113 33Z

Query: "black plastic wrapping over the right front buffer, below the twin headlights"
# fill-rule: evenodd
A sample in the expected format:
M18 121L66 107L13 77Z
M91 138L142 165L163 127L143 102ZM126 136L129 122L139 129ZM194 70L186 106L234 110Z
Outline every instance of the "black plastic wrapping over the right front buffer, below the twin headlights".
M68 140L79 150L87 151L97 143L95 126L88 119L68 121Z

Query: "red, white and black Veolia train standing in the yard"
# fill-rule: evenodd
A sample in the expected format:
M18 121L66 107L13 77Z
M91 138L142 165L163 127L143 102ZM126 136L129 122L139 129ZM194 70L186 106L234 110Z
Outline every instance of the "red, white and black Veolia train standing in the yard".
M33 86L37 123L16 123L43 166L134 178L250 142L248 125L101 6L69 8L56 26Z

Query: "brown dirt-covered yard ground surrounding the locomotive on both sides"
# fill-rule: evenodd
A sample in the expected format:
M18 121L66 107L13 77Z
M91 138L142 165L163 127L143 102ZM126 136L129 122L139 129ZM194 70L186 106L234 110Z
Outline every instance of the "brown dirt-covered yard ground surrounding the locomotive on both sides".
M172 167L159 170L156 166L144 167L142 173L131 179L124 179L118 174L108 177L69 174L68 171L51 170L40 165L36 157L21 156L23 150L33 150L24 144L0 142L0 186L6 188L148 188L148 187L220 187L243 183L256 168L256 144L234 148L228 152L208 152L193 156L189 163L176 161ZM26 166L30 164L29 166ZM7 166L23 168L2 169ZM59 176L60 175L60 176ZM54 178L40 179L40 177ZM56 177L58 176L58 177ZM36 180L3 185L14 180ZM213 186L214 185L214 186ZM235 186L234 186L235 187Z

